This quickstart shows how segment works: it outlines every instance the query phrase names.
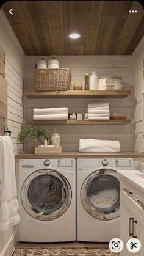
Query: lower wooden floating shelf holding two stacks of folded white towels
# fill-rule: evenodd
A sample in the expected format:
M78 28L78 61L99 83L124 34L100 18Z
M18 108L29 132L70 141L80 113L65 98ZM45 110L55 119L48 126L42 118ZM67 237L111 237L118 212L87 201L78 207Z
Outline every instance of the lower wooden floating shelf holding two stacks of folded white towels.
M27 125L126 125L130 119L118 120L31 120Z

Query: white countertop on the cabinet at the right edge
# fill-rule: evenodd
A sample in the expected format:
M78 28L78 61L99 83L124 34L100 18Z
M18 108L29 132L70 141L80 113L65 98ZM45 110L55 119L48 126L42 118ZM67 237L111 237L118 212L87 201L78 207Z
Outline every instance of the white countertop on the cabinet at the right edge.
M144 194L144 178L137 175L144 175L144 172L140 170L117 170L117 173L123 181L128 181L134 188Z

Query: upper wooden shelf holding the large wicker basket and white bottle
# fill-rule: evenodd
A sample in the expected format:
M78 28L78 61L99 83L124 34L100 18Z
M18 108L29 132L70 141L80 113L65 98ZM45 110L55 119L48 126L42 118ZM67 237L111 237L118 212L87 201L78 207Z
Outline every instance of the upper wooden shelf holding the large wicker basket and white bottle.
M29 98L126 98L131 90L49 90L25 91Z

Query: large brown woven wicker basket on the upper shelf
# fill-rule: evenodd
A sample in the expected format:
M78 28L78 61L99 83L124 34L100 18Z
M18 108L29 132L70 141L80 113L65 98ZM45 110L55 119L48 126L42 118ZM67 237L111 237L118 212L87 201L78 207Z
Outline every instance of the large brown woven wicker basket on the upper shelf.
M35 70L36 90L70 90L71 70L46 68Z

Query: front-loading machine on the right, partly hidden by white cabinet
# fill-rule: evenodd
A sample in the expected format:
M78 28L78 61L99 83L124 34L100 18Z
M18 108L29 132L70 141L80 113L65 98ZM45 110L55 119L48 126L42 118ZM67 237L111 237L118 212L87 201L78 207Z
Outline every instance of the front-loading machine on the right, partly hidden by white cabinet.
M117 170L133 159L77 159L77 241L109 242L119 237L120 181Z

